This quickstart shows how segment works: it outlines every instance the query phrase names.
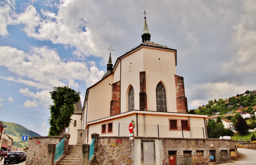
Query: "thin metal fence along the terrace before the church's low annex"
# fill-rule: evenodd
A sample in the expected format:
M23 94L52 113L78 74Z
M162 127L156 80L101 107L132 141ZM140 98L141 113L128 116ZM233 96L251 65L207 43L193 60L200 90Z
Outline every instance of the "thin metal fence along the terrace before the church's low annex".
M129 123L119 123L119 136L129 136ZM176 138L206 138L203 127L170 129L169 126L135 124L135 136L139 137L176 137Z

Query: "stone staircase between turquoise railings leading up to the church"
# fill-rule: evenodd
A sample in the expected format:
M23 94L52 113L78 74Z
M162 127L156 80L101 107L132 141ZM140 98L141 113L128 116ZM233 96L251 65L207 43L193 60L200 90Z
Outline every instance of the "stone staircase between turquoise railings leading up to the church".
M82 159L82 144L69 145L68 153L63 157L58 165L80 165Z

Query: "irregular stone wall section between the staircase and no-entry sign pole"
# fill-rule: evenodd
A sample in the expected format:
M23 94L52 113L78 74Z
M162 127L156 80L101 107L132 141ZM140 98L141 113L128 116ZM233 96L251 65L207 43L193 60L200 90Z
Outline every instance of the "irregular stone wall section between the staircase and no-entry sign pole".
M122 139L122 143L115 143ZM132 164L132 141L127 137L97 137L94 142L95 165Z

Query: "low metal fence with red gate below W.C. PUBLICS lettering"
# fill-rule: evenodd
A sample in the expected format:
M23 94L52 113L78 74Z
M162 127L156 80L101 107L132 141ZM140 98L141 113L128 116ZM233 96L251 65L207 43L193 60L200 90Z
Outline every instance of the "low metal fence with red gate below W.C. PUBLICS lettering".
M169 165L193 165L191 155L168 156Z

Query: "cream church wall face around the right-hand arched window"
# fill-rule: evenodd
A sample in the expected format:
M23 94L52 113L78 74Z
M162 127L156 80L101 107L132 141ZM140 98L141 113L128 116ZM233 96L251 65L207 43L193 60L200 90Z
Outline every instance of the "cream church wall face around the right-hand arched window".
M177 112L174 52L143 48L143 63L146 71L148 111L156 111L156 85L162 81L167 93L167 111Z

